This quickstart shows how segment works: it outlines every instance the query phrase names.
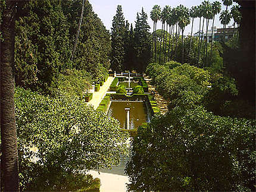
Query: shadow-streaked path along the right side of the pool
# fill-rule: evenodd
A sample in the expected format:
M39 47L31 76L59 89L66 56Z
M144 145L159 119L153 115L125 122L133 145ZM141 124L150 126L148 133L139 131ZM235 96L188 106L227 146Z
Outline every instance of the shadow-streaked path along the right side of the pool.
M148 83L148 92L151 93L151 90L155 92L155 102L157 102L158 108L160 108L161 114L165 114L168 111L168 100L164 99L157 90L155 90L155 86L151 84L151 78L145 77L146 83Z

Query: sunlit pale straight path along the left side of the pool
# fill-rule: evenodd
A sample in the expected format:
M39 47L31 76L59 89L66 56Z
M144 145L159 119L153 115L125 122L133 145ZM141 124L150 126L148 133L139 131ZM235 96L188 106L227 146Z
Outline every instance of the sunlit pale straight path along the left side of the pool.
M114 80L114 77L108 77L107 81L101 86L98 92L94 92L92 95L92 99L89 101L89 104L93 106L94 109L97 109L99 103L104 98L110 84Z

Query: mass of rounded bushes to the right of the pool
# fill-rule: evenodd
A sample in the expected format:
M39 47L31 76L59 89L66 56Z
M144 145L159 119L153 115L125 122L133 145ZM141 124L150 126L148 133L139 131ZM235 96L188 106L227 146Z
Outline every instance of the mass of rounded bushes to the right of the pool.
M233 79L177 62L150 64L147 73L170 100L169 111L138 128L129 190L252 190L256 122L218 116L230 115L223 105L238 94ZM235 107L235 117L253 118Z

